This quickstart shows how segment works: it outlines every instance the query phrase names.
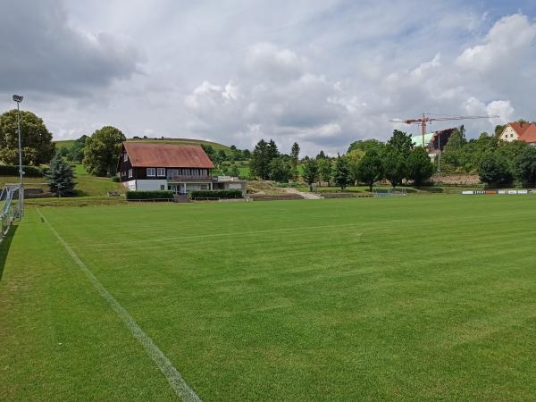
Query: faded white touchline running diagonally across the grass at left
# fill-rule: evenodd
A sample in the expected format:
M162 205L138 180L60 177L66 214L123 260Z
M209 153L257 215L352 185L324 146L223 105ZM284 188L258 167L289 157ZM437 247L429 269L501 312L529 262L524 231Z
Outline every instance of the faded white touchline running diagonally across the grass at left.
M95 288L98 290L98 292L101 294L102 297L105 298L105 300L110 304L110 306L113 308L115 313L119 315L121 318L121 321L124 322L124 324L127 326L127 328L130 330L134 338L138 339L139 343L143 346L143 348L146 349L147 355L149 355L155 364L158 366L160 371L163 373L167 381L172 386L172 389L175 390L177 395L184 401L188 402L194 402L194 401L201 401L199 397L197 397L196 392L194 392L193 389L188 387L188 384L180 373L177 371L175 367L173 367L172 362L170 359L167 358L156 345L153 339L151 339L145 331L143 331L138 323L130 316L130 314L125 310L119 302L108 292L108 290L105 289L105 287L96 279L96 276L91 272L86 264L80 260L79 256L76 255L74 251L72 251L72 248L67 244L65 240L58 234L58 232L54 229L54 227L48 222L43 214L41 214L41 211L38 209L38 214L41 215L41 219L43 219L43 222L46 223L46 225L52 230L54 233L54 236L60 240L60 243L62 243L63 247L65 247L65 250L67 250L67 253L71 255L72 259L82 272L86 274L88 277L88 280L95 286Z

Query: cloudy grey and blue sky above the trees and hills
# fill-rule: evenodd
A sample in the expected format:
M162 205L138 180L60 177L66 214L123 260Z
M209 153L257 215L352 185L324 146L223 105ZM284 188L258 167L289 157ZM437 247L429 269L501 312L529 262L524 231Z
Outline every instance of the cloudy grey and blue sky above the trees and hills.
M0 111L20 93L56 139L335 153L423 112L536 120L533 0L0 0L0 38Z

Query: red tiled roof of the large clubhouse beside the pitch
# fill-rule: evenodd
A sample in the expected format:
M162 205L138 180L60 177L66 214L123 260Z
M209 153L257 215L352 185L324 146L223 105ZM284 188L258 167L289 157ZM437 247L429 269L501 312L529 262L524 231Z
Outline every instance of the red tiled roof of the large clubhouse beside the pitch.
M214 169L214 163L200 146L123 142L123 147L135 167Z

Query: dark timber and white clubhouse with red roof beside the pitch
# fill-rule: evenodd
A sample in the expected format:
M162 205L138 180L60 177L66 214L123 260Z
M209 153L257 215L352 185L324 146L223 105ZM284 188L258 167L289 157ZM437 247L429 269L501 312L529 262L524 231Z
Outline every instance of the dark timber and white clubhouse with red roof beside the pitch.
M122 143L118 169L123 186L133 191L170 190L187 194L192 190L241 189L245 180L213 176L214 163L200 146Z

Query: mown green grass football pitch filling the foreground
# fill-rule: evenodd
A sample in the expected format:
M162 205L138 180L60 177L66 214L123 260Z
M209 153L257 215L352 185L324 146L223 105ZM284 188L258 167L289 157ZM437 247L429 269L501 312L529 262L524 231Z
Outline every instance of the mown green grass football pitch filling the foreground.
M46 222L203 400L536 398L536 196L29 208L0 399L176 400Z

